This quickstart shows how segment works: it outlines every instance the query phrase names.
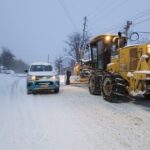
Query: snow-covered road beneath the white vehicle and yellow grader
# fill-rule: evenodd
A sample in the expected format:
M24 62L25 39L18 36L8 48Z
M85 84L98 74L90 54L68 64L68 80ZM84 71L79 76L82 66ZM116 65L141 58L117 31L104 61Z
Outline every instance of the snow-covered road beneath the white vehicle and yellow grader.
M149 150L150 102L109 103L86 85L26 94L0 74L0 150Z

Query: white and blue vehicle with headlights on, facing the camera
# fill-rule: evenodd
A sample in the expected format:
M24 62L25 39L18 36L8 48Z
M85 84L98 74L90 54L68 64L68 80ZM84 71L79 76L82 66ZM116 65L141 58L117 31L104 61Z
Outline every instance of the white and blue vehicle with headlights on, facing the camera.
M27 94L51 90L58 93L59 87L59 77L49 63L37 62L30 65L27 71Z

